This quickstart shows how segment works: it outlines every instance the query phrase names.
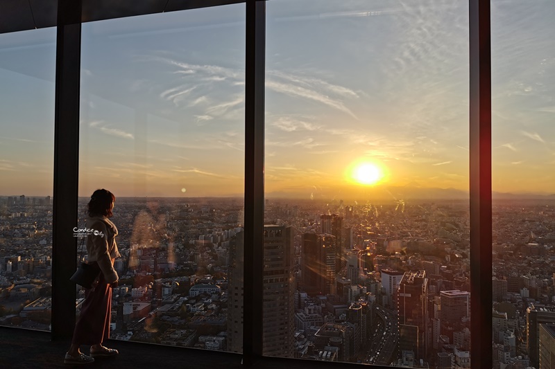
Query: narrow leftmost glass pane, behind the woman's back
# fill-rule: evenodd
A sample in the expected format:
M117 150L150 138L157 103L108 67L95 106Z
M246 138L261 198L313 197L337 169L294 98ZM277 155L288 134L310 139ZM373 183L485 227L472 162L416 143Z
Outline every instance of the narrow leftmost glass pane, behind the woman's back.
M50 330L56 30L0 35L0 325Z

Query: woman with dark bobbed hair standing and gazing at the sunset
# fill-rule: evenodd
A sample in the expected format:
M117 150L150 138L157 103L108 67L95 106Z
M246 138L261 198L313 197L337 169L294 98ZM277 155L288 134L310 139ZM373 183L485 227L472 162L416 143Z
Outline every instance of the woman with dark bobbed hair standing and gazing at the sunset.
M108 190L96 190L88 204L87 254L88 263L100 271L92 289L85 289L85 301L75 325L71 347L64 363L93 363L95 357L110 357L119 352L105 348L102 343L110 338L112 287L117 286L118 276L114 259L119 252L115 237L116 226L110 222L116 197ZM90 356L80 351L80 345L91 345Z

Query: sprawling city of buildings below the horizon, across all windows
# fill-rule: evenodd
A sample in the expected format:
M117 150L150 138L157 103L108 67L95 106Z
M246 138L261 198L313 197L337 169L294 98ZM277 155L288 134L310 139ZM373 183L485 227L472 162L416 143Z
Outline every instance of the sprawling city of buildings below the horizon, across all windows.
M52 201L0 197L0 325L50 329ZM241 352L242 212L118 198L112 338ZM265 224L265 355L470 368L468 200L266 199ZM553 199L494 200L494 368L548 367L554 246Z

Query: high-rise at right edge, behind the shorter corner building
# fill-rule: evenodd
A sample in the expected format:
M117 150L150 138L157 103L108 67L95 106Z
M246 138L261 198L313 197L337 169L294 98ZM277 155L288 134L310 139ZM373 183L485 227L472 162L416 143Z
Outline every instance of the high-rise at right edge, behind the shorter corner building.
M555 323L555 307L532 305L526 309L526 337L530 366L538 368L540 351L540 324Z

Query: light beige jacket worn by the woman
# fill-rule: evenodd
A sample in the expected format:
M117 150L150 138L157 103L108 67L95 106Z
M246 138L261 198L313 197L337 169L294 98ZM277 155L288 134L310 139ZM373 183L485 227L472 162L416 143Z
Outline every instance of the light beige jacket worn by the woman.
M88 217L87 254L89 262L97 262L106 282L116 282L119 277L112 259L119 258L116 244L117 228L107 217Z

